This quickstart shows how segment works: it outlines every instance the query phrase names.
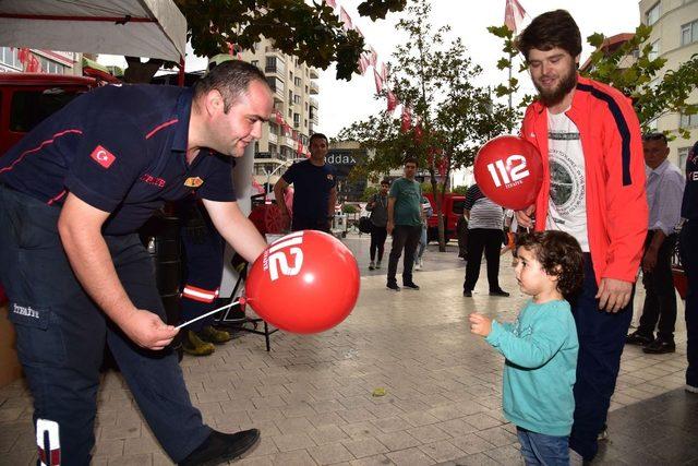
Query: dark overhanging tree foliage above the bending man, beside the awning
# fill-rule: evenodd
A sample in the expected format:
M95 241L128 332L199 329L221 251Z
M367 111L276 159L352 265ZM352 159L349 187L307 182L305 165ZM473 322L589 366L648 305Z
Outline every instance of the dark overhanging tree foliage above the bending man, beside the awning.
M351 80L363 51L363 37L346 32L332 7L304 0L174 0L186 19L186 38L194 53L213 57L227 53L229 44L251 49L262 37L274 41L284 53L296 56L310 67L337 64L337 79ZM407 0L364 0L359 14L375 21L388 12L401 11ZM141 62L127 57L127 82L147 82L163 60ZM167 63L171 67L176 63Z

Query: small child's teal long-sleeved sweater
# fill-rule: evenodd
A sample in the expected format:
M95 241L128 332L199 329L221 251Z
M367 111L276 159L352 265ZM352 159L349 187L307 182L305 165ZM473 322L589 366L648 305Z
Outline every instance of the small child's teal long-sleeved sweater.
M493 321L486 342L506 358L505 417L532 432L569 435L579 349L569 303L529 301L516 322Z

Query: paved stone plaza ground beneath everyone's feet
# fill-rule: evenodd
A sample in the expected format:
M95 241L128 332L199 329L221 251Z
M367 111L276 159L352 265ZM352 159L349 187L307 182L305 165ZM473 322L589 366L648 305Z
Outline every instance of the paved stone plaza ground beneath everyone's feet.
M240 465L518 465L515 428L501 411L503 359L466 321L479 311L513 320L526 299L510 255L502 287L488 296L483 271L464 298L465 263L449 244L430 244L420 291L389 291L385 266L369 272L366 236L346 243L362 270L351 315L318 335L242 334L182 368L193 403L212 427L260 428L262 441ZM389 247L389 243L387 244ZM401 270L401 266L400 268ZM399 278L398 278L399 280ZM641 286L639 287L641 288ZM636 295L636 318L642 290ZM600 465L698 464L698 395L685 393L685 326L679 304L676 353L626 347ZM375 397L375 389L385 390ZM131 393L108 372L98 395L94 465L169 465ZM36 461L32 399L23 381L0 389L0 464Z

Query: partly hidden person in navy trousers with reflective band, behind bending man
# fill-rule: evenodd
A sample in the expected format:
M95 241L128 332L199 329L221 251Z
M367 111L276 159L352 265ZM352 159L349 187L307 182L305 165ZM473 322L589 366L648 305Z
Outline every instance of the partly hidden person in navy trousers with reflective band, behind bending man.
M196 180L191 182L195 183ZM179 207L184 249L181 304L182 321L186 322L216 307L222 279L225 241L194 195L184 200ZM228 332L213 326L215 319L215 315L208 315L189 325L182 338L185 353L208 356L215 351L214 345L230 340Z

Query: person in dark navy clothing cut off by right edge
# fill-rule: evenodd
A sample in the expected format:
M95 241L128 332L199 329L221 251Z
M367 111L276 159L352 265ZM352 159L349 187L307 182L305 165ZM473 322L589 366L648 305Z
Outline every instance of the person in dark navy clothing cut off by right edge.
M678 241L682 263L688 278L686 391L698 394L698 142L686 158L686 188L681 216L686 220Z

